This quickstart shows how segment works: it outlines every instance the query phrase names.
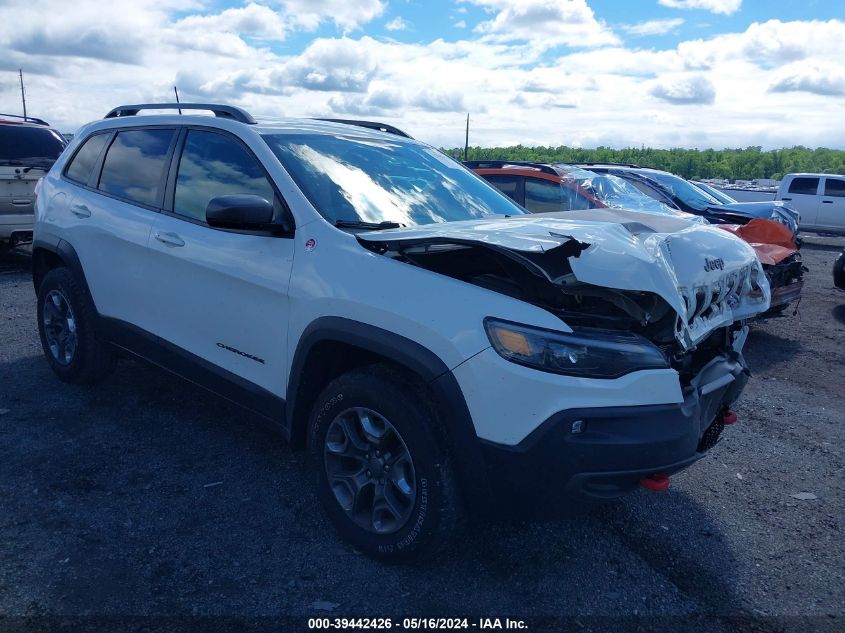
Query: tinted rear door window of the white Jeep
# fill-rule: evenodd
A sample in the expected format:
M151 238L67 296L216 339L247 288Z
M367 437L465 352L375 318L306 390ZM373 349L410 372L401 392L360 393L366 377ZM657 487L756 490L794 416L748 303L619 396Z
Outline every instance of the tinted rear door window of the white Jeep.
M100 175L100 189L141 204L158 203L173 130L119 132L109 147Z

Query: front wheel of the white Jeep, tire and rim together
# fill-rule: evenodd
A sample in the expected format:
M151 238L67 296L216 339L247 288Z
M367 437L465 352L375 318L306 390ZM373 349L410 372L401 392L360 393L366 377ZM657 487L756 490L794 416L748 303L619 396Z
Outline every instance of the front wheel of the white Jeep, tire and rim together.
M309 424L318 495L359 551L407 559L443 545L459 504L433 406L400 370L373 365L332 381Z

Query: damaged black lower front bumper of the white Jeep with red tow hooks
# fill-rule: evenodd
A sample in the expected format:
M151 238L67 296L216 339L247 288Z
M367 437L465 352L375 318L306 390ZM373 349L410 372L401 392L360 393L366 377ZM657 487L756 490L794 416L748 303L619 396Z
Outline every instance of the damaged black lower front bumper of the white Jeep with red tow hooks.
M643 477L671 475L704 457L748 381L739 351L746 333L698 372L683 402L566 410L516 446L482 442L499 504L528 510L613 499Z

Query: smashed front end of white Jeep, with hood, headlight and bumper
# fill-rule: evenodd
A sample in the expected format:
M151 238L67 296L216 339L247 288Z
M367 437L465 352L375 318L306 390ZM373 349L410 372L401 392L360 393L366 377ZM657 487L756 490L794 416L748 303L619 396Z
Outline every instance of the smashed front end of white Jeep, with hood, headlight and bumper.
M589 219L568 212L358 239L382 256L560 319L552 330L509 322L507 314L484 323L490 353L579 379L509 374L507 393L547 394L536 405L539 419L483 436L487 472L497 489L513 491L512 499L543 489L538 481L549 482L545 492L554 497L613 498L642 482L665 482L697 461L731 423L730 408L748 380L745 321L769 307L769 285L748 244L664 216L594 209ZM489 375L476 369L495 362L489 359L478 354L462 365L460 379ZM624 387L658 374L674 381L667 369L677 374L677 386L666 400ZM477 405L479 419L510 411L508 420L519 420L526 412L512 400L491 394Z

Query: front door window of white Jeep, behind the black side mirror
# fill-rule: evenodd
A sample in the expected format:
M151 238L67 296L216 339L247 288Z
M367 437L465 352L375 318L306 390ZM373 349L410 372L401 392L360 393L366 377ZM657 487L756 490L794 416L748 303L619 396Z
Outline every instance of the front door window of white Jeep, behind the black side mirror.
M258 162L236 141L214 132L188 131L179 160L173 211L205 221L217 196L253 194L273 202L273 187Z

